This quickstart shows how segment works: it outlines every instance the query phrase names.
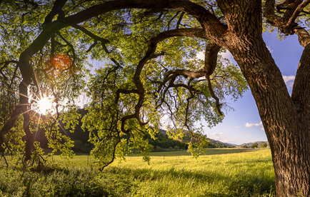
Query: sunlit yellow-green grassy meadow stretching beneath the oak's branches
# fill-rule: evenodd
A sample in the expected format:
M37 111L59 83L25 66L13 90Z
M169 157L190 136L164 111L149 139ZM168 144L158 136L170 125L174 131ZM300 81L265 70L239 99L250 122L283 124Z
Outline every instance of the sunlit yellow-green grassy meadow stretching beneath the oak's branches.
M49 173L0 169L0 196L275 196L270 149L209 149L151 153L115 161L100 172L94 158L53 160Z

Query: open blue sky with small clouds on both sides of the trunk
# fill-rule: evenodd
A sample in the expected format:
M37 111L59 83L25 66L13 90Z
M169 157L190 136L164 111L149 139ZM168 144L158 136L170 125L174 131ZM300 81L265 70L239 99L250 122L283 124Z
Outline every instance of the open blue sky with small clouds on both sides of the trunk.
M295 35L288 36L281 41L277 38L276 33L264 33L263 37L266 46L271 51L276 64L281 70L282 76L284 76L286 86L291 91L299 59L304 48L299 45ZM234 62L231 54L224 54L224 56ZM238 145L254 141L267 141L251 91L247 91L244 97L236 102L229 100L227 102L231 103L231 107L235 111L227 111L224 121L217 126L211 129L205 126L205 132L209 138ZM203 124L206 125L204 122Z

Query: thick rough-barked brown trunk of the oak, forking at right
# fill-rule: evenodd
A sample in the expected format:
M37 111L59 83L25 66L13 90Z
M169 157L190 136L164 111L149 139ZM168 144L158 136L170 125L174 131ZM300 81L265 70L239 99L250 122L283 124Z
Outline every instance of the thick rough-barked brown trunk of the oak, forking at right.
M277 196L310 196L310 49L305 49L292 96L262 39L261 1L218 1L228 25L225 43L259 109L274 161Z

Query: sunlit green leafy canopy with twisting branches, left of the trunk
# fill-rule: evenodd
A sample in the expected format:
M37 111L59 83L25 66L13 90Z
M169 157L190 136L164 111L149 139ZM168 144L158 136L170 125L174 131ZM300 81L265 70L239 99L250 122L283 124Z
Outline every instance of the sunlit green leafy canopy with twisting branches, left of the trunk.
M221 122L222 110L229 108L226 98L236 100L247 89L241 71L228 59L216 53L215 61L207 62L212 44L201 34L199 21L183 11L116 9L66 24L69 16L106 1L64 2L2 2L0 128L19 103L22 76L16 61L53 24L53 34L31 56L39 86L29 85L29 102L52 95L56 113L31 116L32 132L44 130L51 148L68 153L72 142L58 123L68 128L77 123L76 99L86 91L90 101L83 127L90 131L91 153L102 166L136 150L149 161L145 134L154 137L164 126L174 137L189 131L189 151L198 156L206 143L201 118L210 127ZM193 2L221 14L213 1Z

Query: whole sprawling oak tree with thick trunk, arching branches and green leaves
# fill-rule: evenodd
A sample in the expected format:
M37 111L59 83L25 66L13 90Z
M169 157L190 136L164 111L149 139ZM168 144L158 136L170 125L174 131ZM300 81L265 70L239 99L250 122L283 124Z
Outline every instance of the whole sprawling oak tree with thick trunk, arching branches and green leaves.
M201 132L194 133L196 121L219 123L225 96L239 98L246 79L269 140L277 195L310 195L310 1L0 2L2 152L23 121L25 156L31 158L39 130L32 103L42 89L57 106L74 102L85 87L89 59L104 64L86 79L91 102L84 117L103 166L130 147L148 151L144 134L154 135L162 116L171 120L171 133L193 133L195 153L204 142ZM304 46L291 95L262 39L266 29L296 34ZM221 61L222 50L231 52L239 69ZM196 58L201 51L204 60ZM57 106L56 120L58 110L74 113ZM62 118L70 125L74 118L68 117ZM45 122L50 133L58 131L55 122Z

